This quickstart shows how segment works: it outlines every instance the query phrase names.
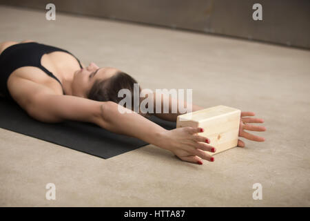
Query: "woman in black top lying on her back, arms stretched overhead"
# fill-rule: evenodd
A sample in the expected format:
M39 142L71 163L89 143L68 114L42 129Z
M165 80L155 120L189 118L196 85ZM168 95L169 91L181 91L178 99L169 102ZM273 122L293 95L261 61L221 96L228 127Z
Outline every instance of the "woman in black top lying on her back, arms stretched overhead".
M91 122L102 128L136 137L149 144L167 149L180 160L203 164L214 161L207 152L216 151L209 139L198 135L202 128L176 128L166 130L147 119L141 111L135 112L118 104L123 99L118 91L127 88L134 95L135 79L117 68L99 68L91 63L85 67L67 50L39 44L35 41L5 41L0 45L0 96L14 99L28 115L41 122L62 122L65 119ZM141 92L141 88L139 88ZM154 107L156 106L156 94ZM163 107L163 100L161 100ZM154 113L156 117L176 122L180 111ZM192 105L192 111L203 109ZM130 111L130 113L120 113ZM242 112L239 136L263 142L264 137L247 133L265 131L264 126L245 123L262 123L263 119L251 118L253 112ZM238 146L245 144L238 140Z

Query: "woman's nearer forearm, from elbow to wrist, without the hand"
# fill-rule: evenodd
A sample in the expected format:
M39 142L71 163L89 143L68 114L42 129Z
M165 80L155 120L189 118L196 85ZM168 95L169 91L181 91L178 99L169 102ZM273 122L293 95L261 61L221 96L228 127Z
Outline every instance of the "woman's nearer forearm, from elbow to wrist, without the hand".
M123 106L120 107L122 110L126 109ZM149 144L161 147L161 135L167 130L138 113L129 109L126 110L130 113L120 113L118 104L106 102L101 106L101 116L97 117L95 123L108 131L136 137Z

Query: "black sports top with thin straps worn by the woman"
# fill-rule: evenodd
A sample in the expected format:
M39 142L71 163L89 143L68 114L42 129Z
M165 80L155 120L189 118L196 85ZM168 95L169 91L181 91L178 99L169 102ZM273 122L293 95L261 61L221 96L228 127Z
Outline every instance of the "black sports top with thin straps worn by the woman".
M3 50L0 55L0 93L8 98L12 98L8 91L8 77L10 77L14 70L24 66L38 67L47 75L59 81L48 69L41 65L41 57L54 51L63 51L72 55L68 50L39 44L37 42L14 44ZM74 55L72 56L75 57ZM76 60L79 62L80 67L83 68L79 59L76 58ZM59 84L61 84L61 81L59 81ZM61 88L63 88L62 85ZM64 90L63 94L65 94Z

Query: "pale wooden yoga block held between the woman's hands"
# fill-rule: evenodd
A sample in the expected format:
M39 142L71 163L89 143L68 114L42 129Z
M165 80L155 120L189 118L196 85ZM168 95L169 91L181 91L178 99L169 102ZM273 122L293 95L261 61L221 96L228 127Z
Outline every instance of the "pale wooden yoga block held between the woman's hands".
M216 153L226 151L238 144L238 134L241 111L229 106L218 105L184 115L178 115L176 128L191 126L201 127L203 133L198 133L209 138L211 146L216 148ZM216 153L207 152L209 155Z

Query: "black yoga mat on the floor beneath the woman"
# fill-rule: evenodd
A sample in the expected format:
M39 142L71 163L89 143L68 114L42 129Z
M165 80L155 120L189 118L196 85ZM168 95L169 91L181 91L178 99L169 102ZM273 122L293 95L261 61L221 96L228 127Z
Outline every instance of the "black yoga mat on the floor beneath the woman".
M168 130L176 128L176 122L155 116L149 120ZM0 127L104 159L147 145L142 140L112 133L95 124L39 122L29 117L15 102L3 98L0 98Z

